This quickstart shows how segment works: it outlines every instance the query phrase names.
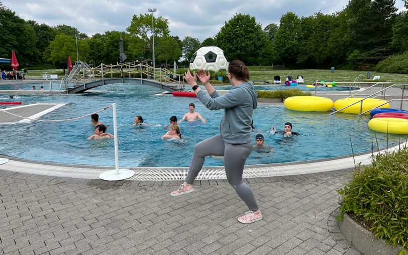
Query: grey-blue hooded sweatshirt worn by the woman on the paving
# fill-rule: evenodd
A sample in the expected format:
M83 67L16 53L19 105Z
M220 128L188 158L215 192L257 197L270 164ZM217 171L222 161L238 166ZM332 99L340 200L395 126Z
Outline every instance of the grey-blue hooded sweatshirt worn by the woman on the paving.
M258 94L253 83L242 83L222 96L217 91L209 96L201 89L197 93L197 98L209 110L225 109L220 123L220 133L224 142L245 144L252 141L252 113L258 105Z

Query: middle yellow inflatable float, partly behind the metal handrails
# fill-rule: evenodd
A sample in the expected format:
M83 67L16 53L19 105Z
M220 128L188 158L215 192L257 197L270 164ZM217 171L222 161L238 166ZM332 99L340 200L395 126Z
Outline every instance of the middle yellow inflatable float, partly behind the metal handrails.
M334 102L334 108L335 110L340 110L341 108L344 108L350 104L353 104L357 101L360 101L363 98L343 98L339 99L336 102ZM381 105L383 103L386 103L387 101L382 100L382 99L377 99L377 98L367 98L363 101L363 109L362 112L370 110L372 108L377 107L378 105ZM350 106L340 112L343 113L353 113L353 114L360 114L360 106L361 102L354 104L353 106ZM390 108L389 103L384 104L380 106L379 108ZM369 114L370 112L367 112L366 114Z

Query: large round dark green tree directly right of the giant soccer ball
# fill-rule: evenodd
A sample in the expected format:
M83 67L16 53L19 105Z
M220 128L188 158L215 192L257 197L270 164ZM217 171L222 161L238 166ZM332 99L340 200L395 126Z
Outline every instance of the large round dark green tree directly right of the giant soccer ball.
M257 65L264 61L268 38L255 17L235 14L221 27L215 41L230 60L239 59L247 65Z

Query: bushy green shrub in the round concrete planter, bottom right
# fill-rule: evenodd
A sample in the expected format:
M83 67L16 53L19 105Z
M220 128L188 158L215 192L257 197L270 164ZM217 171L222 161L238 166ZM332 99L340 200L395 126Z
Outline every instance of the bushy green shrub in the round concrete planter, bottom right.
M408 148L378 154L371 166L358 166L342 195L339 219L354 214L374 235L408 248Z

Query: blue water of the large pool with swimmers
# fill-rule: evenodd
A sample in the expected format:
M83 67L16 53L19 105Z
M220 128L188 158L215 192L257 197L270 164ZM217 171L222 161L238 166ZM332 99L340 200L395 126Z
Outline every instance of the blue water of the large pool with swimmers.
M223 111L206 109L197 98L153 96L159 89L132 85L112 84L95 90L105 91L84 95L19 95L14 99L23 104L36 102L68 103L47 115L43 120L67 119L95 112L111 103L118 107L119 162L121 166L186 167L193 147L199 141L219 134L218 126ZM180 124L181 141L163 141L168 119L176 115L180 120L194 102L196 111L207 119ZM132 126L135 115L142 115L148 126ZM113 133L112 109L99 113L100 121ZM253 138L258 133L273 147L269 153L253 151L247 164L304 161L350 155L350 137L354 153L371 151L374 132L368 129L368 117L349 114L328 115L327 112L296 112L283 106L260 105L254 112ZM284 138L269 133L272 125L283 129L285 122L293 124L293 131L301 136ZM70 164L114 165L113 139L88 141L94 133L90 117L76 121L0 125L0 154L31 160ZM377 133L380 147L386 146L386 135ZM389 144L398 142L397 135L389 136ZM376 144L374 139L374 144ZM220 159L206 158L206 166L220 166Z

